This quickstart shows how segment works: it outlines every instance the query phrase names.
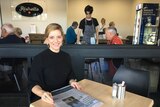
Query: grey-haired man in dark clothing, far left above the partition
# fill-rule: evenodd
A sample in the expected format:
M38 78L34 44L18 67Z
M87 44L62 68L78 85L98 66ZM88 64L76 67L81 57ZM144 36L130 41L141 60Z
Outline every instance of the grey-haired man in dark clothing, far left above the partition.
M14 27L12 24L3 24L1 30L2 39L0 39L0 44L24 43L21 38L14 34Z

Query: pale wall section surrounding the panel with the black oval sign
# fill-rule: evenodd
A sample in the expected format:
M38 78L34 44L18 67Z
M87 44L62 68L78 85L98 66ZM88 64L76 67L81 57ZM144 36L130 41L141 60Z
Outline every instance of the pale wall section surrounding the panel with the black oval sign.
M14 0L13 0L14 1ZM26 2L26 0L23 0ZM29 2L36 0L29 0ZM37 0L38 1L38 0ZM2 9L3 23L12 23L16 27L22 28L23 36L30 32L30 25L37 26L37 33L44 33L49 23L59 23L64 31L67 28L66 0L43 0L46 2L48 18L45 21L36 21L28 18L27 20L12 20L11 2L12 0L0 0Z

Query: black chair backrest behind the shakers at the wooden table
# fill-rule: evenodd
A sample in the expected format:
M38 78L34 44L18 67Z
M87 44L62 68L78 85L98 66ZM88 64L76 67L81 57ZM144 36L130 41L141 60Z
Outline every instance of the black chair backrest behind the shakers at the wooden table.
M149 72L144 70L132 69L121 65L113 77L113 83L126 82L126 90L148 96L149 93Z

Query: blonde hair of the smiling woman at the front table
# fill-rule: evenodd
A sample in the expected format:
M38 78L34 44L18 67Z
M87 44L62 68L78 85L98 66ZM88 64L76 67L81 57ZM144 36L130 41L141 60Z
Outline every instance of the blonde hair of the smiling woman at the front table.
M45 29L45 36L44 36L44 39L46 39L48 36L49 36L49 33L51 31L54 31L54 30L60 30L61 34L62 34L62 37L64 38L64 33L63 33L63 29L61 27L61 25L57 24L57 23L51 23L49 24L46 29Z

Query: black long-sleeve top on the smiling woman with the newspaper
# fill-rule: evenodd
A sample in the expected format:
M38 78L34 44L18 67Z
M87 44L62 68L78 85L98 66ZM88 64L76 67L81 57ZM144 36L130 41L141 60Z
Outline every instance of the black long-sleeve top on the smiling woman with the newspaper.
M54 53L46 49L35 56L29 73L29 89L39 85L45 91L52 91L69 84L75 79L69 54Z

